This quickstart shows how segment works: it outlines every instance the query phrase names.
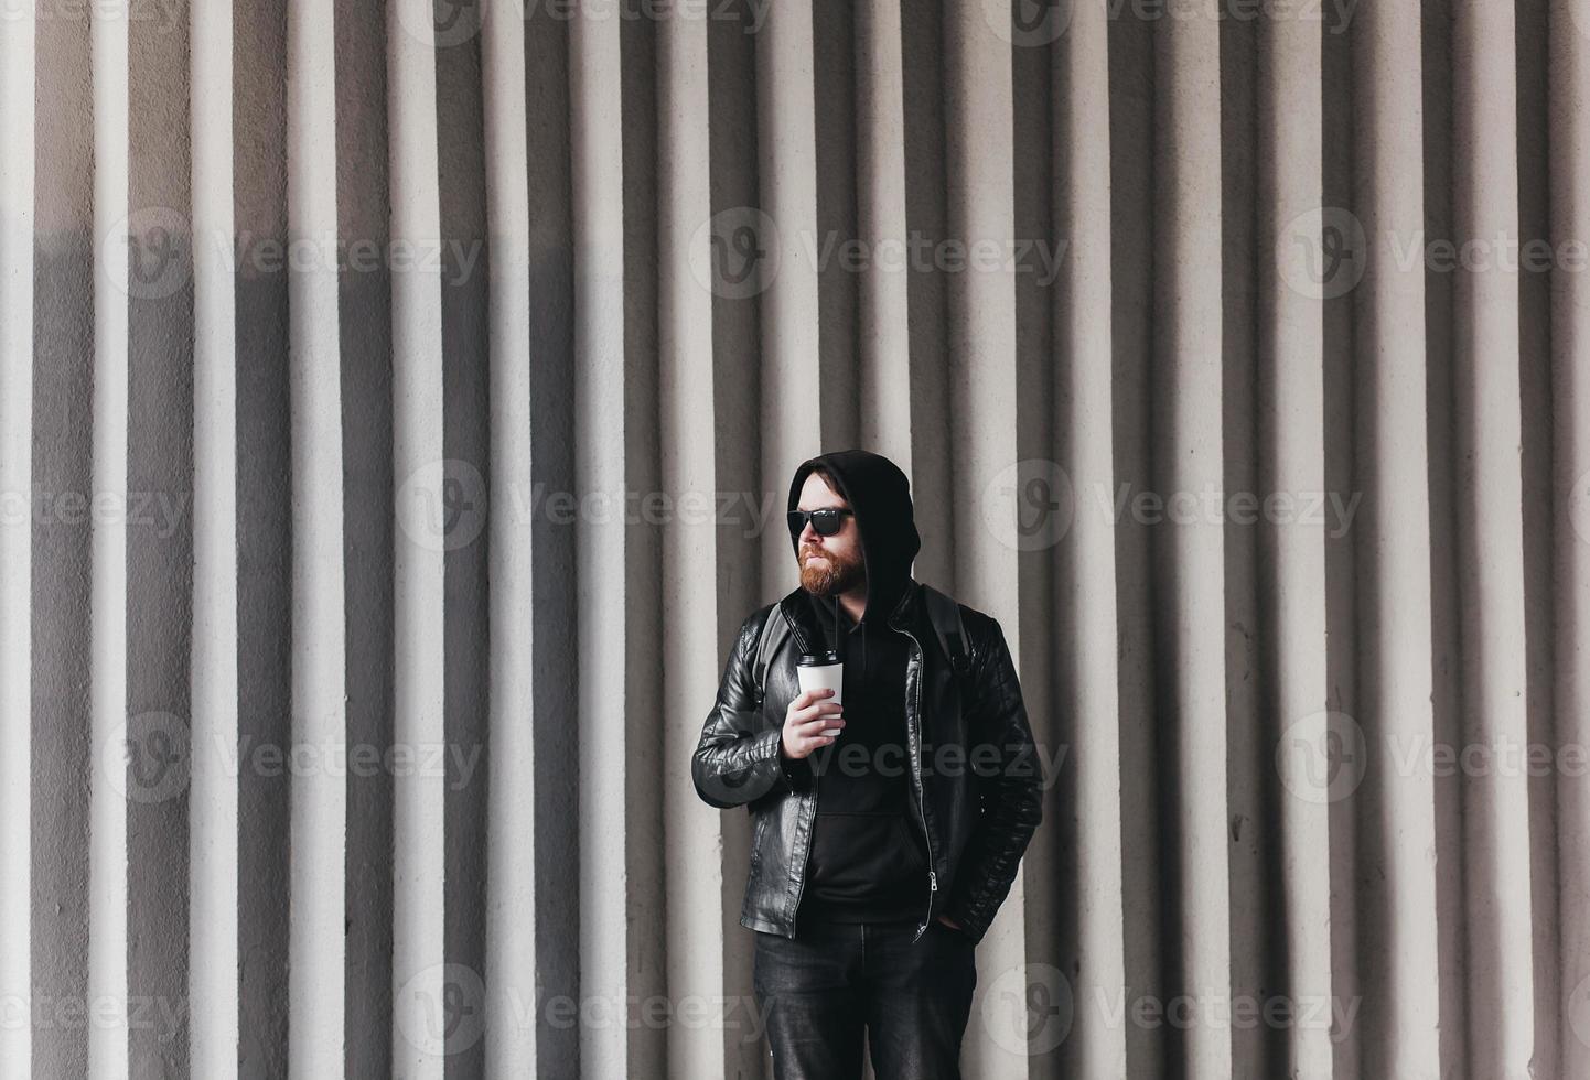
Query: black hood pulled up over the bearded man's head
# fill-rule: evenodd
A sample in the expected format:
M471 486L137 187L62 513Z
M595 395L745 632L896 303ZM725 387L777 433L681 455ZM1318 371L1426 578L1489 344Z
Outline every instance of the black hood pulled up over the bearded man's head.
M882 623L911 581L911 562L922 550L911 508L911 481L892 461L865 449L841 449L809 457L795 469L789 510L800 505L800 489L812 469L822 465L851 503L862 530L862 559L867 565L867 608L862 619ZM800 537L790 537L800 554ZM838 605L838 597L835 597Z

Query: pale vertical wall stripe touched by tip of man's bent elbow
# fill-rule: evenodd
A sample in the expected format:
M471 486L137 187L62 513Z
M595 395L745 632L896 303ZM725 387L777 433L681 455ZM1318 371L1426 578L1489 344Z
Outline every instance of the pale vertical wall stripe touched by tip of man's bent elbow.
M733 25L733 24L730 24ZM720 38L722 40L722 38ZM698 416L716 415L714 403L714 295L712 259L712 100L709 76L733 75L712 65L709 22L681 11L658 24L657 116L660 140L674 152L658 162L658 294L657 365L661 399L658 437L663 449L661 486L666 491L712 491L717 476L714 448L717 430L696 424ZM746 44L750 40L746 38ZM747 200L754 202L754 200ZM701 230L701 226L708 226ZM736 222L739 224L739 222ZM725 240L733 240L728 233ZM714 696L717 686L704 670L693 670L685 658L719 651L717 618L720 589L701 588L692 567L700 557L716 559L719 545L711 519L666 519L663 526L663 608L676 613L679 634L661 642L666 727L663 761L688 761L700 735L700 723L687 702ZM736 627L738 629L738 627ZM681 672L679 677L674 672ZM735 951L738 924L731 889L735 851L749 851L746 821L738 815L701 813L692 785L673 773L663 786L663 813L681 827L669 829L663 842L669 867L666 877L666 964L668 985L731 985L725 966ZM711 912L714 920L693 918ZM735 1059L728 1032L719 1026L681 1031L668 1040L665 1075L743 1075L758 1069L755 1055Z

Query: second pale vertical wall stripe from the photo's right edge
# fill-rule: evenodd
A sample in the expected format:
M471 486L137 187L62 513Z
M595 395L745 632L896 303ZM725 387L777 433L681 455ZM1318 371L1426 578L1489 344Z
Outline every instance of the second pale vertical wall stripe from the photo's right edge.
M1453 200L1458 235L1518 237L1518 111L1512 5L1458 0L1453 21ZM1464 745L1528 740L1518 272L1456 275L1456 488ZM1526 773L1464 785L1468 1061L1472 1075L1528 1075L1534 1042Z

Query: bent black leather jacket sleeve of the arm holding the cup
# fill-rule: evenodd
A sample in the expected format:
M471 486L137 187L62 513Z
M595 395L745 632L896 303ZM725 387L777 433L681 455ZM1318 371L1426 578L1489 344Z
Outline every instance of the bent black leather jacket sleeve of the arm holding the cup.
M768 611L773 618L776 610ZM717 702L701 727L701 739L690 758L690 778L696 794L711 807L727 810L754 802L774 789L793 791L809 775L805 761L782 753L784 726L757 731L762 715L755 675L757 638L762 619L752 615L723 667Z

